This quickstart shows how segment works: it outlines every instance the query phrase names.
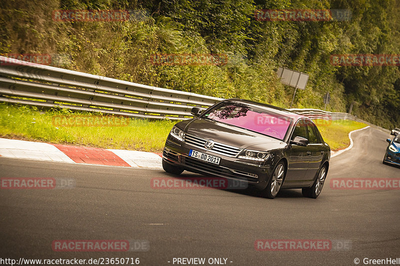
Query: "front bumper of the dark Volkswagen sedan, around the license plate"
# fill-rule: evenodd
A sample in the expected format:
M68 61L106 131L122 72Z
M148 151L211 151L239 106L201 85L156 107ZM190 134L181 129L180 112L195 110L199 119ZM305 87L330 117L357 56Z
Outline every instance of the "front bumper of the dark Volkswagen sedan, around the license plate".
M190 149L221 158L219 165L189 157ZM178 165L189 172L246 182L248 185L254 185L259 189L266 186L267 177L270 176L271 172L271 165L268 164L270 159L255 165L248 160L223 156L193 147L184 142L176 142L169 136L165 143L162 158L168 163Z

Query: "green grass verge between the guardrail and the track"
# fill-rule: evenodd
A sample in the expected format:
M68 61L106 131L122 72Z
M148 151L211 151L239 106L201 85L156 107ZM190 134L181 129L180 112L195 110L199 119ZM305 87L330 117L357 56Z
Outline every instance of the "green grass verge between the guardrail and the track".
M0 137L107 149L161 152L173 121L130 119L127 126L57 126L54 116L103 118L101 114L71 113L67 109L39 111L35 107L0 104ZM108 117L108 116L107 116ZM323 139L332 150L350 144L348 132L363 128L349 120L315 121ZM331 123L330 123L331 122Z

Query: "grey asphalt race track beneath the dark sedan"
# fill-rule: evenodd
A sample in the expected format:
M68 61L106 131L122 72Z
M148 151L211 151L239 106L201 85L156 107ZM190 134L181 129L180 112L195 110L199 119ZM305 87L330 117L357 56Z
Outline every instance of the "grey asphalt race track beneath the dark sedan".
M252 189L156 190L160 170L0 158L0 177L74 179L63 190L0 190L0 258L227 258L227 265L355 265L354 259L400 258L400 190L334 190L333 178L399 178L382 164L388 134L368 128L331 159L318 199L300 190L274 200ZM188 174L195 177L198 175ZM331 251L255 251L258 239L328 239ZM148 252L54 252L53 240L147 240ZM348 243L351 243L348 247ZM337 247L336 247L337 248ZM170 263L168 263L168 261ZM205 264L208 265L208 264Z

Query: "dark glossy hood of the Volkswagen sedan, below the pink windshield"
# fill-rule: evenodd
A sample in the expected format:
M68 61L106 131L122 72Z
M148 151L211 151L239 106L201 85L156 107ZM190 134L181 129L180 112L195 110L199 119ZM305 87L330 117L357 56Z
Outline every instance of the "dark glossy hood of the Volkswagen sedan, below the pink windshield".
M243 149L252 146L266 150L286 145L281 140L266 135L203 118L196 118L187 123L184 131L186 134Z

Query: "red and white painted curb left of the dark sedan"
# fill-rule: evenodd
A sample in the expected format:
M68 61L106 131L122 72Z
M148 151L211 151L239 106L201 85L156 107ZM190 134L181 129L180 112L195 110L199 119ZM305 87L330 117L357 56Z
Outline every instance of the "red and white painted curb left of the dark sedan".
M152 152L99 149L0 138L0 156L61 163L162 169L162 158Z

